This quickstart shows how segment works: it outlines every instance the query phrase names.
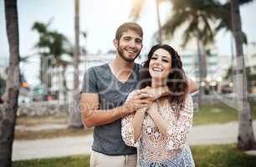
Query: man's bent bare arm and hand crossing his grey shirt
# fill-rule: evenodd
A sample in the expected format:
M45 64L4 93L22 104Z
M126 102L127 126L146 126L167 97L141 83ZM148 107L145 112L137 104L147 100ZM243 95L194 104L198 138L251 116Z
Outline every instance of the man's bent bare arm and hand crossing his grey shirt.
M85 126L91 128L97 125L110 124L123 118L126 114L135 112L136 109L147 107L150 103L146 99L141 99L140 94L137 94L120 107L103 110L99 109L99 94L82 93L80 109Z

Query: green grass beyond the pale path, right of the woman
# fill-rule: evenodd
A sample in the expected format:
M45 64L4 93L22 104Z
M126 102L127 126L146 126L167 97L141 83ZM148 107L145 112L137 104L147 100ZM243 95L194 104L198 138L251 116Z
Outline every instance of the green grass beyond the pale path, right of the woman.
M251 103L251 113L256 119L256 103ZM204 105L194 111L193 125L221 124L238 120L238 111L225 104Z

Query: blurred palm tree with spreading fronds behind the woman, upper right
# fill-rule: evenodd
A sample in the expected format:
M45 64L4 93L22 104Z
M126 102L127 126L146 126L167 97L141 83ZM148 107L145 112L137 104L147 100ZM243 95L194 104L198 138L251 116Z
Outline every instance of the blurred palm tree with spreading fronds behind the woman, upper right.
M199 94L198 105L201 106L201 98L204 89L201 85L207 76L206 58L204 53L205 47L214 42L215 31L212 25L215 21L213 17L214 9L218 5L212 0L172 0L172 15L167 19L162 27L166 38L174 35L180 27L185 27L183 33L182 47L196 38L197 55L199 66Z

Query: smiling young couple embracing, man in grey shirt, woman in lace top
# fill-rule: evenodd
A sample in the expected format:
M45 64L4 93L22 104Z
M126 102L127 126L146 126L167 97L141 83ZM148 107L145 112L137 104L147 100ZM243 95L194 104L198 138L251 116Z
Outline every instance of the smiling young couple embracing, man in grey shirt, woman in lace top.
M188 94L197 84L169 45L151 48L143 67L134 63L142 38L137 23L120 25L115 59L84 74L82 117L95 127L91 167L194 166L186 139L193 114Z

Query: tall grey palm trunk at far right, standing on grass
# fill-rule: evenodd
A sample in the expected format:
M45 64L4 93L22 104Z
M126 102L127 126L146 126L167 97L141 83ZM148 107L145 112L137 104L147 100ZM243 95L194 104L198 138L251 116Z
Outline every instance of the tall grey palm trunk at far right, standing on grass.
M235 92L237 94L238 102L238 149L249 150L255 149L255 139L253 134L253 121L250 113L250 106L248 104L246 69L243 57L243 39L241 29L241 18L239 12L238 0L232 0L231 13L233 36L236 46L237 66L234 73Z

